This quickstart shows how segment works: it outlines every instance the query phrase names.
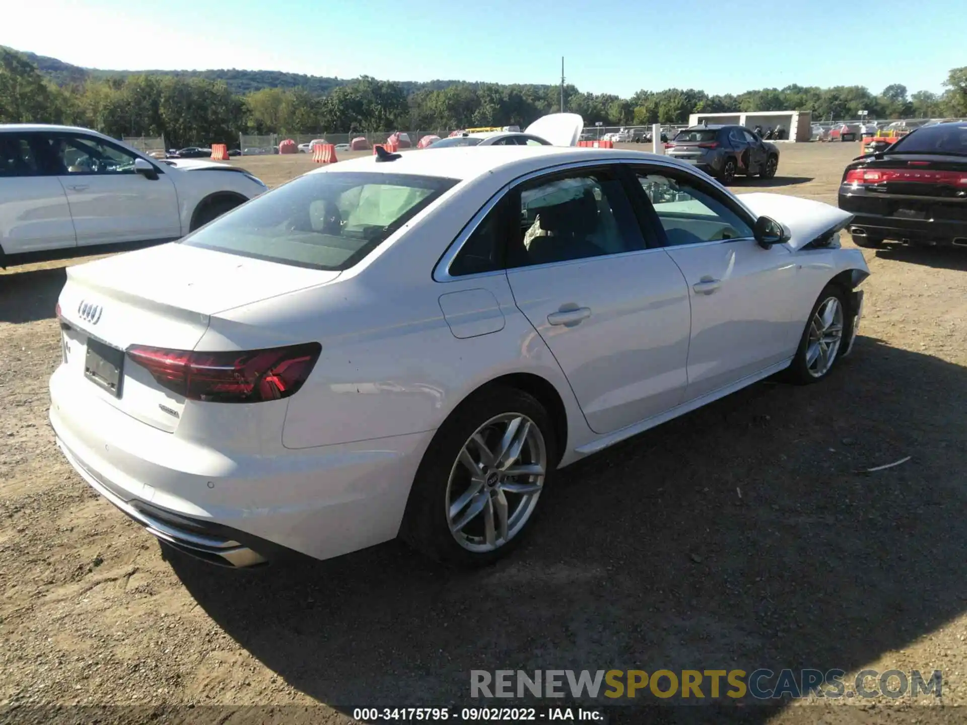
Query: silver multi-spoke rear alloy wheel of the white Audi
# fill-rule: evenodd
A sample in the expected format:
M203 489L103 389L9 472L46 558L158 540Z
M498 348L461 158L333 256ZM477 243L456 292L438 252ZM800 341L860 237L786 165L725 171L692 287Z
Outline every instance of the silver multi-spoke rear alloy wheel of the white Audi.
M530 519L543 490L547 447L537 424L519 413L487 420L454 461L447 483L447 523L457 543L494 551Z

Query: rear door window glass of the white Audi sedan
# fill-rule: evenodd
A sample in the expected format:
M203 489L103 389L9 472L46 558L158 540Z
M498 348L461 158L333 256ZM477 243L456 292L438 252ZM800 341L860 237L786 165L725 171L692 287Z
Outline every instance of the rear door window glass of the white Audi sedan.
M508 249L508 267L620 254L645 246L621 182L605 171L523 186L519 215L519 236Z

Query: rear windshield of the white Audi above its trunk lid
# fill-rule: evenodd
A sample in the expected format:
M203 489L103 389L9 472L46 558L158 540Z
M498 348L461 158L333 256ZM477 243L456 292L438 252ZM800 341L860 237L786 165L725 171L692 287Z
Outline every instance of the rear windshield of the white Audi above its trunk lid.
M190 234L182 244L319 270L347 270L456 184L409 174L308 174Z

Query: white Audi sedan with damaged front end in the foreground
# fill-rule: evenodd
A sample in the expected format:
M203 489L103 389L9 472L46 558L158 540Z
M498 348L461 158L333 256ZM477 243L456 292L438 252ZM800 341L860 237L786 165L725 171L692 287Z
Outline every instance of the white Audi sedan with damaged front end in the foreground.
M869 274L849 219L640 152L344 161L68 268L50 421L108 501L214 563L399 536L486 564L556 469L830 374Z

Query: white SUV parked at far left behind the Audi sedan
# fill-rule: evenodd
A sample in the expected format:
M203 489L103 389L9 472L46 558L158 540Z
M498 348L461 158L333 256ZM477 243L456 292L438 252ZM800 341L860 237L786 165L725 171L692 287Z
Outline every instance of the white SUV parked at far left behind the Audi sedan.
M265 190L237 166L151 159L97 131L0 125L0 266L178 239Z

